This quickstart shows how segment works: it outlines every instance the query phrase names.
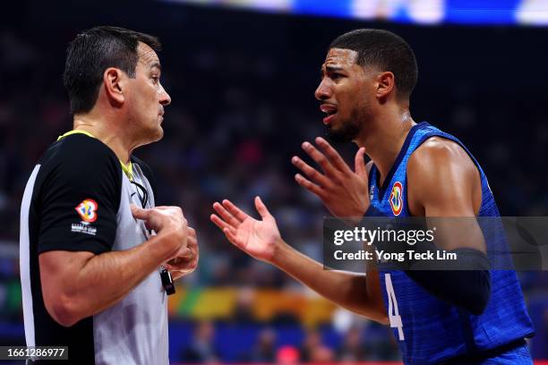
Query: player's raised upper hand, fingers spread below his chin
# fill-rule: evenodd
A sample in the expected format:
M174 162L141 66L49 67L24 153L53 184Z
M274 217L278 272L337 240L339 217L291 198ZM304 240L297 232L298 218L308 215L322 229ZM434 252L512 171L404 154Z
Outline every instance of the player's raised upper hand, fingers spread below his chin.
M364 163L365 149L358 149L355 154L355 171L352 171L327 140L318 137L316 143L321 150L309 142L303 143L303 149L321 166L323 174L295 156L291 158L291 162L308 177L307 179L301 174L295 174L295 181L320 197L333 216L364 216L370 204L369 182Z

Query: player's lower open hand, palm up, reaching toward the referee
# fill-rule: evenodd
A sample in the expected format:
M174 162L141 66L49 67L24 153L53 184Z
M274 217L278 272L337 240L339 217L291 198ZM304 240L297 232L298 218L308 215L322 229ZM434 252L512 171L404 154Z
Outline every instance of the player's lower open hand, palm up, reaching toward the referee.
M261 198L255 198L255 208L261 220L248 216L227 199L222 204L215 202L213 208L218 215L212 214L210 219L225 233L229 242L255 259L272 263L282 241L276 219Z

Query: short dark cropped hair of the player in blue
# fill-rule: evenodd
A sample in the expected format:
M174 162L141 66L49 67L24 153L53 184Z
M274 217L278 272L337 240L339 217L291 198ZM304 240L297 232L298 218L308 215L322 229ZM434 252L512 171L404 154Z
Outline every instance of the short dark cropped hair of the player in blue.
M394 73L400 99L409 98L415 89L415 53L403 38L388 30L352 30L333 40L330 48L352 49L358 54L356 64Z

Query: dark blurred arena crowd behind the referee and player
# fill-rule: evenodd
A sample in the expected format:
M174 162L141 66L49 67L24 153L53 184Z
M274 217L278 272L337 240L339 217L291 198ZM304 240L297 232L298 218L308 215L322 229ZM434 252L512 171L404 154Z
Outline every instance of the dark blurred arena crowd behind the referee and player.
M61 80L65 48L94 25L150 32L164 44L162 82L173 99L165 137L136 155L156 174L158 205L181 206L201 248L199 269L170 297L172 361L399 359L388 328L250 259L209 220L216 200L254 213L253 197L261 195L285 240L321 260L329 213L295 183L290 158L303 157L301 143L325 132L313 90L330 41L347 30L383 28L406 38L419 65L415 121L467 145L501 215L548 215L544 28L416 26L159 2L15 6L0 15L0 345L24 344L22 191L47 146L72 129ZM355 146L337 148L352 161ZM519 276L537 330L532 352L548 359L548 275Z

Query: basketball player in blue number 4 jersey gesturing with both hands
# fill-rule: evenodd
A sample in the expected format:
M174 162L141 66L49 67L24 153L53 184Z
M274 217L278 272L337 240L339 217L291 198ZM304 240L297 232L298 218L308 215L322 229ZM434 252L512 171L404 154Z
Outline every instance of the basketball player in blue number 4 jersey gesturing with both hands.
M462 143L413 121L416 80L413 50L397 35L354 30L336 38L315 96L330 137L359 146L355 171L318 138L320 149L308 142L303 149L323 173L293 157L306 175L296 174L296 182L337 217L499 216L484 171ZM364 154L372 159L367 166ZM261 220L229 200L216 202L211 220L254 258L347 310L390 324L406 364L532 364L524 338L534 328L516 273L492 269L486 252L501 241L484 240L475 219L444 227L434 246L458 254L454 265L473 269L398 270L380 263L363 276L323 270L281 239L259 197L255 207Z

